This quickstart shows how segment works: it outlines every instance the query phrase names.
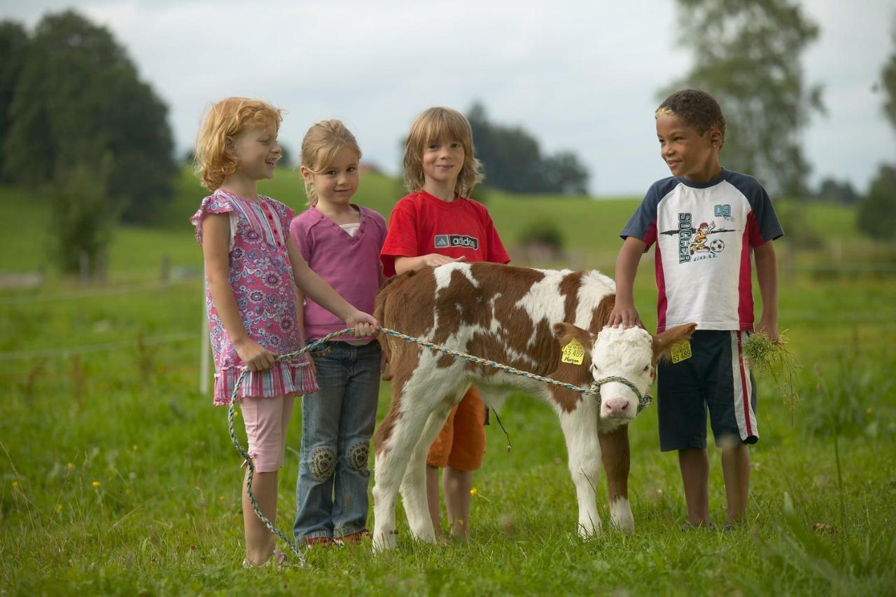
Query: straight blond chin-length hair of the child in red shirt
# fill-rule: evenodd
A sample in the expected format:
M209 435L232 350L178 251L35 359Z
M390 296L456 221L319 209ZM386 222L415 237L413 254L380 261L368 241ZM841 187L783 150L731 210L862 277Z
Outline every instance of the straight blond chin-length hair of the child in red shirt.
M473 130L467 118L452 108L429 108L410 125L404 143L404 184L411 193L419 191L426 183L423 150L429 143L447 140L463 146L463 165L457 175L454 194L469 197L473 187L485 178L482 163L476 159Z

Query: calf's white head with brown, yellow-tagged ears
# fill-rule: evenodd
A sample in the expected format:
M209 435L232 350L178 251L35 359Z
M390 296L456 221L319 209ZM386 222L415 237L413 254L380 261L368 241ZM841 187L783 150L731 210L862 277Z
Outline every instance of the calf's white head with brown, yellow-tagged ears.
M642 395L647 394L657 375L657 361L668 358L676 344L690 340L697 324L682 324L652 335L641 327L606 327L594 334L573 324L556 324L554 333L561 348L577 341L585 349L582 368L589 381L622 377ZM584 376L582 376L584 377ZM600 386L600 418L627 422L638 412L638 396L623 382L607 381Z

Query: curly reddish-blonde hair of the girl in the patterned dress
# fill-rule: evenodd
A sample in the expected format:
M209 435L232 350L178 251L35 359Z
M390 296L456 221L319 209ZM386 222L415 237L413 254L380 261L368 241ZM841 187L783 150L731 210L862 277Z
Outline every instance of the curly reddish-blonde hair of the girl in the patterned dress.
M228 98L212 104L196 135L194 170L202 186L214 191L224 178L239 168L239 161L227 150L227 140L248 127L272 127L280 130L283 110L261 99Z

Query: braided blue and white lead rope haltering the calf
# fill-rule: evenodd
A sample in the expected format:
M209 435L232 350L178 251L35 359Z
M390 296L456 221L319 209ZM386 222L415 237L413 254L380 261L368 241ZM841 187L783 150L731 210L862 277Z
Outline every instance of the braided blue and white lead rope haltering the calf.
M419 344L420 346L422 346L424 348L438 350L439 352L444 352L444 354L451 355L452 357L467 359L470 362L476 363L477 365L485 365L487 367L501 369L502 371L505 371L507 373L512 373L513 375L526 377L529 379L535 379L537 381L544 382L549 385L559 385L560 387L564 387L568 390L573 390L574 392L579 392L581 394L590 394L597 398L598 404L600 404L600 386L607 384L607 383L611 383L611 382L616 382L619 384L627 385L629 387L629 389L632 390L634 395L636 395L638 397L638 411L637 411L638 413L643 411L644 408L646 408L647 405L650 404L650 402L653 400L653 398L650 396L650 394L641 394L641 392L638 391L638 388L631 381L629 381L628 379L625 379L625 377L620 377L620 376L602 377L600 379L595 380L591 384L590 388L583 388L578 385L567 384L566 382L562 382L562 381L553 379L551 377L539 376L538 374L530 373L529 371L523 371L522 369L513 368L513 367L510 367L509 365L504 365L503 363L495 362L494 360L482 359L481 357L476 357L474 355L467 354L466 352L461 352L460 350L452 350L449 348L445 348L444 346L441 346L439 344L435 344L433 342L427 342L426 340L420 340L419 338L415 338L414 336L409 336L406 333L401 333L401 332L396 332L395 330L390 330L387 327L382 327L382 326L377 327L376 330L378 332L383 332L387 335L399 338L405 342L414 342L415 344ZM304 346L301 350L297 350L295 352L289 352L287 354L280 355L279 357L277 357L274 360L276 362L280 362L283 360L295 359L296 357L305 354L308 350L314 350L314 348L316 348L320 344L323 344L323 342L329 342L330 340L332 340L332 338L335 338L337 336L343 336L343 335L346 335L349 333L354 333L354 331L355 331L354 328L349 327L344 330L340 330L339 332L328 333L327 335L323 336L323 338L321 338L320 340L315 340L314 342L311 342L310 344ZM241 456L243 456L243 458L246 460L246 466L248 467L248 473L246 474L246 495L249 497L249 502L252 504L252 508L255 512L255 515L258 516L258 519L260 521L262 521L264 526L268 527L268 530L270 530L272 533L274 533L275 535L280 537L280 539L282 539L283 541L286 541L286 543L289 545L289 549L292 549L293 553L295 553L298 556L298 559L301 562L301 566L304 567L306 565L305 556L302 554L302 551L300 549L298 549L295 541L292 541L284 532L280 531L280 529L278 529L276 526L274 526L274 524L271 523L271 521L268 519L268 517L264 515L264 513L262 512L262 509L260 507L258 507L258 503L255 502L255 496L252 493L252 480L253 480L254 474L255 474L255 466L254 466L254 463L252 462L252 458L249 456L248 452L246 452L246 450L243 449L243 446L240 445L239 440L237 439L237 434L234 431L234 427L233 427L234 408L233 407L234 407L234 404L237 402L237 392L239 390L239 385L242 384L243 379L246 377L246 373L248 372L248 370L249 370L248 368L244 368L243 371L240 372L239 376L237 377L237 383L234 385L233 393L230 394L230 403L228 404L228 431L230 433L230 440L233 442L234 447L237 448L237 452Z

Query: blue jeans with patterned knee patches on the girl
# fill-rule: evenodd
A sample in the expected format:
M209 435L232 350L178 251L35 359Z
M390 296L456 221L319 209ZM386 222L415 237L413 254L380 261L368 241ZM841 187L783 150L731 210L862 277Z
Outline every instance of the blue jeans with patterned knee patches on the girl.
M367 524L367 458L380 389L380 345L314 350L320 391L302 397L296 541L343 537Z

